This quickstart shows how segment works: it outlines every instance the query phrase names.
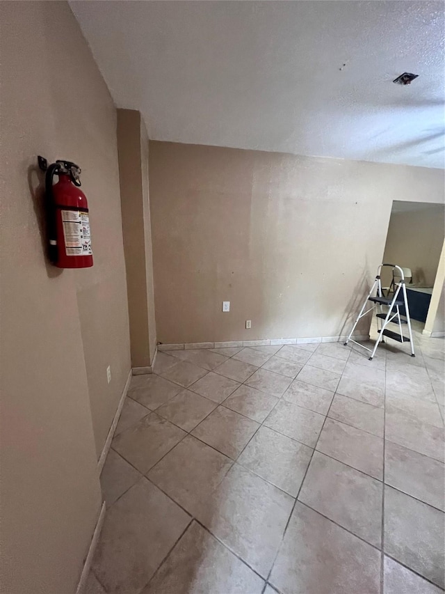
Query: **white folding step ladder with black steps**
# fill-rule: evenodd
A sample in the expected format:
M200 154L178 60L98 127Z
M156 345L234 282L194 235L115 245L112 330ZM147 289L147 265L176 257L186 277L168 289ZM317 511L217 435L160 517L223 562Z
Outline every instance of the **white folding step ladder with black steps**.
M398 275L398 276L400 276L401 280L398 283L396 283L396 286L394 287L394 295L392 297L383 297L383 294L382 294L382 281L380 279L380 271L383 266L390 266L393 269L393 272L394 272L394 269L396 268L400 272L400 275ZM394 276L394 274L393 274L393 276ZM376 290L376 292L375 292L375 296L373 297L374 290ZM401 294L401 297L399 297L400 294ZM371 306L371 308L364 311L364 308L366 307L366 303L369 301L373 302L373 306ZM387 313L385 313L383 311L383 306L387 306L389 308ZM400 313L401 306L405 307L405 319L401 318L401 313ZM384 320L384 321L380 322L381 327L380 327L380 329L378 329L379 336L378 336L377 340L375 341L374 348L371 350L368 347L365 347L364 345L361 345L360 343L353 341L351 336L353 336L353 332L354 332L355 327L357 326L359 320L361 318L363 318L367 313L369 313L370 311L373 311L377 307L379 308L379 311L377 313L377 326L379 325L378 320ZM387 325L390 323L398 324L400 334L387 329ZM402 331L403 324L407 324L408 334L410 334L409 337L403 335L403 331ZM416 356L414 354L414 341L412 340L410 310L408 308L408 299L407 299L407 295L406 295L405 276L403 274L403 269L400 266L397 266L396 264L381 264L378 267L377 276L375 276L374 284L371 287L371 290L369 291L368 297L366 297L366 299L364 301L363 307L360 310L359 315L357 316L357 320L355 320L353 329L350 331L348 338L346 338L345 346L348 344L348 342L355 343L356 345L359 345L359 347L362 347L371 353L371 357L369 357L369 361L372 361L372 359L375 355L375 351L377 350L377 347L378 347L380 341L383 341L384 336L387 336L387 338L392 338L392 340L398 341L399 343L411 343L411 357Z

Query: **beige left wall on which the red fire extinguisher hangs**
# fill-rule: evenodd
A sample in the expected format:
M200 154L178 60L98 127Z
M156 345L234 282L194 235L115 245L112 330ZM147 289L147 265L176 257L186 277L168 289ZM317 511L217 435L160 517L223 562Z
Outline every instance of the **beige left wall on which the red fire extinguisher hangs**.
M0 22L1 587L72 594L130 368L115 109L67 3L1 2ZM91 269L45 261L38 154L82 168Z

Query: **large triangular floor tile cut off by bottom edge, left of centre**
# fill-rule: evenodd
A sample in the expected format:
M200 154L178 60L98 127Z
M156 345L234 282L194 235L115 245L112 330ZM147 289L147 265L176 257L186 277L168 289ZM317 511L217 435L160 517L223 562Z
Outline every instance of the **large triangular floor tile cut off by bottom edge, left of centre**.
M193 522L141 594L261 594L264 581Z

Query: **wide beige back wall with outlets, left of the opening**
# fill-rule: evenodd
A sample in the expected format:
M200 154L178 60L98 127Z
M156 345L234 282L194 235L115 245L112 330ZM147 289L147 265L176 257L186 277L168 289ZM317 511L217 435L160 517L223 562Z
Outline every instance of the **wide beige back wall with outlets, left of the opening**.
M444 202L433 169L163 142L149 166L163 343L346 334L392 201Z

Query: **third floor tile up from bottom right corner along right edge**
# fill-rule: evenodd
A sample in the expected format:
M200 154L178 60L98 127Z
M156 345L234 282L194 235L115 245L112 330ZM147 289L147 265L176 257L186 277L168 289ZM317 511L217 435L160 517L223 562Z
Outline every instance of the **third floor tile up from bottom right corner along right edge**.
M438 460L387 441L385 483L445 510L444 464Z

